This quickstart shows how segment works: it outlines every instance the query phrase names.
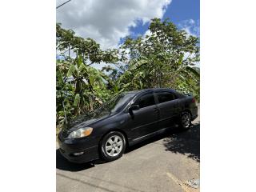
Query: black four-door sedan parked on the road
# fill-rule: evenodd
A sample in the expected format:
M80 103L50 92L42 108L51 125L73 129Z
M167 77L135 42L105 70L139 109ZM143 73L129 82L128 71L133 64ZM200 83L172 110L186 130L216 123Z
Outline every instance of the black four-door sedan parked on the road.
M127 146L174 124L189 129L197 116L198 107L189 94L170 89L126 92L67 123L58 134L59 150L70 162L113 161Z

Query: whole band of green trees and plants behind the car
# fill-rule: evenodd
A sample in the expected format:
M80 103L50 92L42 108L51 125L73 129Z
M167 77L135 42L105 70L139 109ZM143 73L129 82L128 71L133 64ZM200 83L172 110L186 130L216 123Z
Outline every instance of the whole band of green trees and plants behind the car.
M57 24L57 132L66 119L101 106L127 90L170 87L199 99L198 38L178 30L169 20L154 18L150 35L127 37L118 49L101 50L91 38L75 36ZM75 53L71 58L70 54ZM92 64L105 62L102 70Z

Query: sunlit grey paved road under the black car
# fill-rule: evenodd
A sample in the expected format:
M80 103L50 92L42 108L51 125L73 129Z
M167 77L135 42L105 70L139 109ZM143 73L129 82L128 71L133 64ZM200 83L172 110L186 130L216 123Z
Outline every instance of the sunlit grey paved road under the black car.
M199 191L186 181L199 178L200 120L187 131L166 134L130 148L114 162L74 164L56 150L59 192Z

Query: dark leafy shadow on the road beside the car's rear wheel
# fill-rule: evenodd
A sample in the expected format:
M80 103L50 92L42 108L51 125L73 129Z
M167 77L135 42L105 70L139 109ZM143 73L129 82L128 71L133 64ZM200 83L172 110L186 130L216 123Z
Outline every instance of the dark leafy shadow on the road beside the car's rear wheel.
M172 133L163 141L166 150L184 154L200 162L200 122L195 123L190 130L181 133Z

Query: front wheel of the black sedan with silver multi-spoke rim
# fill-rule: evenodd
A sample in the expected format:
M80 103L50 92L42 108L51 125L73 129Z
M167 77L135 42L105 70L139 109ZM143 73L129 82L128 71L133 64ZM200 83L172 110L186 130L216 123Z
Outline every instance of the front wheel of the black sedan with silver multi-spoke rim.
M118 131L111 131L106 134L100 142L101 157L107 162L121 158L125 150L126 138Z

